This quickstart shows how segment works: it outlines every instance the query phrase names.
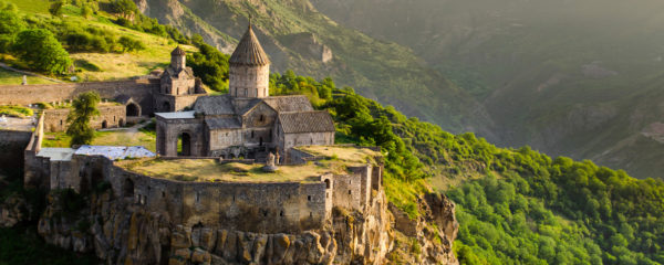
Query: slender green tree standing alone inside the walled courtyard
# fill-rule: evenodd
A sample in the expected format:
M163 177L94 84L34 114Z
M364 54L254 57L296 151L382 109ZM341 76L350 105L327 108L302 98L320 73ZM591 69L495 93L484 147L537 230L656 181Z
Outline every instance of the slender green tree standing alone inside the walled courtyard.
M66 117L69 128L66 135L72 137L71 145L90 145L94 138L94 129L90 126L92 117L98 116L96 108L101 98L96 92L86 92L72 103L74 109Z

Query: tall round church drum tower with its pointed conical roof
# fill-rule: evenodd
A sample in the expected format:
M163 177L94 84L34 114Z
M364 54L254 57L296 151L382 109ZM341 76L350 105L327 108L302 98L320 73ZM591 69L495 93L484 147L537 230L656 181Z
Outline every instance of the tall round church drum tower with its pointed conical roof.
M270 60L251 23L229 60L228 93L235 97L270 96Z

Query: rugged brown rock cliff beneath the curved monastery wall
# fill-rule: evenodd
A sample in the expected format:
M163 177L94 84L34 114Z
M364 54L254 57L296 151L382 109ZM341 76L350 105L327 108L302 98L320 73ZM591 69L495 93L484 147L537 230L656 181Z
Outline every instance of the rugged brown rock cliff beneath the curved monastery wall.
M186 227L108 190L89 197L54 191L48 200L40 235L66 250L94 252L108 264L457 264L454 204L439 195L421 199L425 214L409 220L394 206L388 210L381 191L365 212L335 208L324 229L298 234ZM424 251L402 250L395 237L416 241Z

